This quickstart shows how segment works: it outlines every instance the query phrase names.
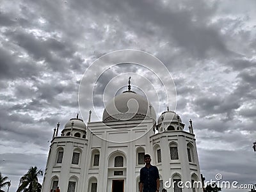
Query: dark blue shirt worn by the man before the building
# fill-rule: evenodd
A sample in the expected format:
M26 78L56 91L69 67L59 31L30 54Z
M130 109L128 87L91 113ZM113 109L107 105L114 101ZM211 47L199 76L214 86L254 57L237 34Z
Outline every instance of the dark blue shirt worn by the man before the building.
M143 192L156 192L156 180L159 179L159 172L156 166L150 164L141 168L140 182L143 183Z

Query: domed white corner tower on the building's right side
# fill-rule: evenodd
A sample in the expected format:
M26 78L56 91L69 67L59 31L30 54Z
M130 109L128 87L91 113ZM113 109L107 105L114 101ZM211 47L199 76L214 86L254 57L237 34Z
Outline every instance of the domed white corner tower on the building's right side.
M167 109L157 120L158 133L150 136L154 163L159 168L161 189L165 188L170 192L203 191L202 188L193 188L194 182L202 180L192 121L189 123L189 132L184 131L185 124L182 124L180 116ZM189 182L191 188L179 188L179 181ZM170 188L166 188L164 182Z

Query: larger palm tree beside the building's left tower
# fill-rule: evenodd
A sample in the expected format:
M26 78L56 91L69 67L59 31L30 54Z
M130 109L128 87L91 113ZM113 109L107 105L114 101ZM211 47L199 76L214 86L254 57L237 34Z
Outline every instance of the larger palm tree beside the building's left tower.
M37 177L42 175L42 170L38 170L36 166L31 166L28 172L20 178L20 186L17 192L40 192L42 186Z

